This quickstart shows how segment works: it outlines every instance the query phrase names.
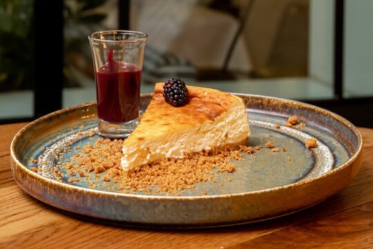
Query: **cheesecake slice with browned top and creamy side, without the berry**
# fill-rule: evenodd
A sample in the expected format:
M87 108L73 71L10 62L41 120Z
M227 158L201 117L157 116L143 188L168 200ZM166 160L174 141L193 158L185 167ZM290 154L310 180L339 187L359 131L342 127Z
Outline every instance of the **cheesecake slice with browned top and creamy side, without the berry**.
M122 167L131 170L163 158L247 142L249 121L242 99L215 89L187 86L189 102L173 107L155 84L149 106L137 128L123 143Z

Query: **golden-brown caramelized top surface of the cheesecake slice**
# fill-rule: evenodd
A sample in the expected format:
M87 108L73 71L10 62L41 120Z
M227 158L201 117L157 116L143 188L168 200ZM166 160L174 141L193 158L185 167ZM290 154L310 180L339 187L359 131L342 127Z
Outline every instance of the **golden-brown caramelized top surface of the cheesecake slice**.
M233 101L239 101L229 93L198 86L187 86L189 102L183 107L173 107L163 98L163 84L155 84L153 100L146 109L136 131L131 134L137 140L142 140L145 136L147 138L156 136L157 133L164 131L177 131L207 120L214 120L221 113L227 111ZM148 132L148 129L142 129L144 127L152 127L153 129ZM156 129L154 129L155 127Z

